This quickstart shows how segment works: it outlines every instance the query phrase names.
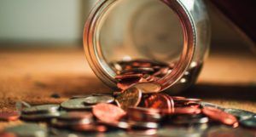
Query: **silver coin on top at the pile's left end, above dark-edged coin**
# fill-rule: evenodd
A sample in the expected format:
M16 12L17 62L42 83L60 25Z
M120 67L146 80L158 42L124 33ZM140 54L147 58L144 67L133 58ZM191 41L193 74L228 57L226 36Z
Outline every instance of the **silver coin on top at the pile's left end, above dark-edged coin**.
M41 106L32 106L22 109L24 114L36 114L36 113L48 113L59 111L60 105L50 104L50 105L41 105Z

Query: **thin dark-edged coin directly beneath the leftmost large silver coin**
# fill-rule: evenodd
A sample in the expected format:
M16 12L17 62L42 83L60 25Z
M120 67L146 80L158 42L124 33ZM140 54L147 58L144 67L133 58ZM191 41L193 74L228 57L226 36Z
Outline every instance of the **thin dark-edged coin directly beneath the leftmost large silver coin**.
M42 114L22 114L21 118L25 120L46 120L61 116L60 112L42 113Z

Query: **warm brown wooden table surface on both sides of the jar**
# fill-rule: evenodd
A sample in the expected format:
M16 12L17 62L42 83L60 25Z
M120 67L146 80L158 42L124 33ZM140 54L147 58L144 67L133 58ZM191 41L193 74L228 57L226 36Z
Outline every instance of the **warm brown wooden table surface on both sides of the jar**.
M256 60L252 54L213 53L198 83L182 94L256 112ZM78 94L111 92L90 70L83 49L0 49L0 111L23 100L61 103ZM59 94L60 99L52 98ZM0 128L19 122L0 122Z

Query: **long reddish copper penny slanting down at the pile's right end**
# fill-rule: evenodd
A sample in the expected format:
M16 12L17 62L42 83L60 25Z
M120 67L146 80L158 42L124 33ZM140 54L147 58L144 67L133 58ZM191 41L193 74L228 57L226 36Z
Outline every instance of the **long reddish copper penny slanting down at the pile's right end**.
M224 111L221 111L217 108L213 107L203 107L202 112L207 115L207 117L212 118L213 120L216 120L218 122L224 123L226 125L230 125L233 127L238 126L238 121L236 117L233 115L226 113Z

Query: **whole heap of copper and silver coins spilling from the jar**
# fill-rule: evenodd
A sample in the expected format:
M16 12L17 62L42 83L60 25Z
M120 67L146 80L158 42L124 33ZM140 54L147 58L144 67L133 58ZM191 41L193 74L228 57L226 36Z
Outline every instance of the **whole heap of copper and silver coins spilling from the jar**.
M172 71L172 66L147 60L132 60L113 63L118 71L115 77L119 92L113 94L76 95L59 104L18 108L15 112L0 112L0 119L25 122L48 123L47 128L32 126L35 129L24 132L35 136L55 134L60 130L82 133L105 133L124 130L128 134L157 134L165 127L211 127L225 125L230 128L256 128L256 114L231 108L216 106L201 99L189 99L160 93L158 78ZM24 104L24 103L23 103ZM21 105L20 105L21 106ZM6 128L2 134L24 136L22 130L31 125ZM54 129L58 129L56 132ZM204 128L207 131L207 128ZM48 131L50 130L50 131ZM45 132L45 133L43 133Z

